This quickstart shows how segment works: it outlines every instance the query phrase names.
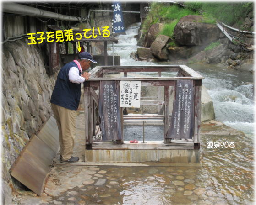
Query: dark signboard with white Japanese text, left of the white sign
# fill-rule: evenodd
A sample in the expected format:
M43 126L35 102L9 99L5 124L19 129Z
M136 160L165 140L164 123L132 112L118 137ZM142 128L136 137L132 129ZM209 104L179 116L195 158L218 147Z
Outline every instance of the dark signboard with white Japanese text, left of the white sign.
M99 92L102 140L121 140L119 81L100 81Z

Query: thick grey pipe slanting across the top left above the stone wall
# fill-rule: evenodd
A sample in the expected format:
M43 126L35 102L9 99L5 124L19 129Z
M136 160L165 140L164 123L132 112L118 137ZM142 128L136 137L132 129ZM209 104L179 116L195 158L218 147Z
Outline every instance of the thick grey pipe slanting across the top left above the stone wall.
M12 14L21 14L28 16L37 16L44 18L52 18L63 21L85 21L87 18L81 18L76 16L66 16L51 11L45 11L42 9L30 7L27 5L16 4L16 3L3 3L3 11Z

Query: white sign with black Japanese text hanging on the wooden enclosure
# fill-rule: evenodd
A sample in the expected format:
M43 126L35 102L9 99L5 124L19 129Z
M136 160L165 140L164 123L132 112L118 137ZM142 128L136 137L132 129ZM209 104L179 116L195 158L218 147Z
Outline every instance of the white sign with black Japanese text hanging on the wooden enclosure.
M120 81L120 107L141 106L141 81Z

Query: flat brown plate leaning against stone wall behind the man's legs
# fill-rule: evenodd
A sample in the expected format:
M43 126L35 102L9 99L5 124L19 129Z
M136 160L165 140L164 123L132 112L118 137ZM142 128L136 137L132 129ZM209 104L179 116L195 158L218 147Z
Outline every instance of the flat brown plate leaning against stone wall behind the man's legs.
M59 133L54 118L47 121L38 136L31 137L10 172L11 176L40 196L50 171L49 165L59 149Z

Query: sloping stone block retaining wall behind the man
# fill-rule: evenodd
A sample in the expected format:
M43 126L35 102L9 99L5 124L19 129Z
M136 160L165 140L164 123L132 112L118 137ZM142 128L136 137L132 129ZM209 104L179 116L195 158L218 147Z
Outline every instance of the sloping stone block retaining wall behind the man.
M49 100L57 74L46 73L45 50L27 43L23 39L2 47L2 194L6 204L11 189L20 187L10 176L12 164L52 115Z

